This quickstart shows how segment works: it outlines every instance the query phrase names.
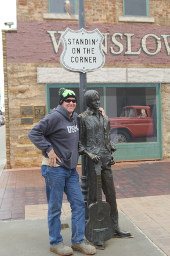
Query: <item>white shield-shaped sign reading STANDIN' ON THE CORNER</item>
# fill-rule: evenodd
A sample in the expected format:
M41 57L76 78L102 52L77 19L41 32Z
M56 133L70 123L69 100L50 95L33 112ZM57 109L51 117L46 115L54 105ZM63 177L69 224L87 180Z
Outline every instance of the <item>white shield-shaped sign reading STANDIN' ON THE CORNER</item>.
M105 56L101 48L104 36L96 28L93 31L81 28L78 31L67 28L61 36L63 51L60 63L64 69L73 72L91 72L103 67Z

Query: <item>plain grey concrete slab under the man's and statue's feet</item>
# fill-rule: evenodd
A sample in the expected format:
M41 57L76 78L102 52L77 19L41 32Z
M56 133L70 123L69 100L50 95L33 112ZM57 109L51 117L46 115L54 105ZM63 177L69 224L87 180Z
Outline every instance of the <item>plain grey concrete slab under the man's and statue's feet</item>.
M121 226L130 230L134 238L112 238L105 242L105 250L95 255L103 256L163 256L159 249L124 213L119 214ZM62 217L63 224L71 227L71 217ZM19 220L0 222L1 256L48 256L57 255L49 250L47 220ZM71 246L71 230L62 230L63 242ZM84 255L74 251L73 255Z

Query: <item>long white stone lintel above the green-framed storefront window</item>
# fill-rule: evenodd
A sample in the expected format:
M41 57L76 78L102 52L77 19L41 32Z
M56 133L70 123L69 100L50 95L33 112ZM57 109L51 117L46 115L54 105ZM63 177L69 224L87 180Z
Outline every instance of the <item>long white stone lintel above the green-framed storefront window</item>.
M63 68L37 68L37 82L79 83L79 73ZM87 82L100 83L170 83L170 68L101 68L87 73Z

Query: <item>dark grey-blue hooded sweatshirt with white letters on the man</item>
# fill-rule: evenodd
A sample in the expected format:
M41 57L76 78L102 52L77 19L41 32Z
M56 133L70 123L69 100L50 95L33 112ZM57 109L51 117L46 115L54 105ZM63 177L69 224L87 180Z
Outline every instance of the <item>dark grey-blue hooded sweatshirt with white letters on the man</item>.
M57 160L59 165L69 169L76 167L79 157L79 129L76 113L73 112L70 117L69 112L58 105L29 131L28 137L46 158L48 158L46 152L53 148L61 159L61 163Z

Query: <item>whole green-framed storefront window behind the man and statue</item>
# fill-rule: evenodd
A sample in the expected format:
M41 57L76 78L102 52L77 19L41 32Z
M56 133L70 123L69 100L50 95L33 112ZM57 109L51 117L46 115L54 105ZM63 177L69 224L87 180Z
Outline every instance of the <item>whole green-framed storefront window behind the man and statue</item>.
M79 84L47 84L47 112L58 105L59 88L74 90L80 114ZM111 122L116 160L162 159L160 84L87 84L100 94L100 106Z

